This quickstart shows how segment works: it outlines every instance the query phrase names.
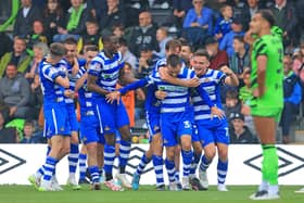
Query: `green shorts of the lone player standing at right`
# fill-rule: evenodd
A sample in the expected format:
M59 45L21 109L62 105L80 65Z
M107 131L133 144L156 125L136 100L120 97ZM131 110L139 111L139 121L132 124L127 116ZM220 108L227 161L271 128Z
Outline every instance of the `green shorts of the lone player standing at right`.
M279 122L281 118L282 107L262 107L262 106L252 106L251 115L261 116L261 117L274 117L276 122Z

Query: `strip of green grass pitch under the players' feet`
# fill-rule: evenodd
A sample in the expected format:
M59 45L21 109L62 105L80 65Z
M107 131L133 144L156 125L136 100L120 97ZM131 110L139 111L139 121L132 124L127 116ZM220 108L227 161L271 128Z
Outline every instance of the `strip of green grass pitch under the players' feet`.
M281 199L266 202L304 203L304 194L294 193L300 186L280 187ZM73 191L38 192L33 186L0 186L0 203L246 203L255 186L228 186L228 192L208 191L155 191L152 186L141 186L138 191L113 192L102 186L101 191L90 191L88 186ZM265 202L265 201L264 201Z

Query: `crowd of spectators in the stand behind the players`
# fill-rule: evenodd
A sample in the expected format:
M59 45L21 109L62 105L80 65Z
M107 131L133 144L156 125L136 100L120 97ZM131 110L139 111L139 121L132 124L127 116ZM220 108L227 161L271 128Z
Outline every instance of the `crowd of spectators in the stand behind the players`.
M173 38L181 40L181 56L187 65L195 49L205 48L211 55L211 68L227 65L240 79L237 89L223 88L221 96L231 120L231 141L255 142L248 106L250 46L244 35L259 9L271 10L282 29L286 79L280 126L282 141L289 143L290 120L299 114L304 81L303 0L0 1L0 140L5 142L5 135L16 135L14 140L22 143L42 140L42 96L37 67L51 42L73 37L81 56L88 45L102 50L102 36L113 34L119 37L123 59L138 78L149 75L156 61L165 56L165 45ZM131 97L137 123L144 118L143 102L137 100L136 93ZM12 122L14 128L8 127Z

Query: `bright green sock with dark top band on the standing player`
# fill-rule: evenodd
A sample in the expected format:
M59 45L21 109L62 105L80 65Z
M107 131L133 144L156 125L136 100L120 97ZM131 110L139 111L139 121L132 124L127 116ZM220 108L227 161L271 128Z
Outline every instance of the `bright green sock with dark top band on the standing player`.
M267 180L270 186L278 185L278 168L279 157L275 144L262 144L263 164L262 174L263 180Z

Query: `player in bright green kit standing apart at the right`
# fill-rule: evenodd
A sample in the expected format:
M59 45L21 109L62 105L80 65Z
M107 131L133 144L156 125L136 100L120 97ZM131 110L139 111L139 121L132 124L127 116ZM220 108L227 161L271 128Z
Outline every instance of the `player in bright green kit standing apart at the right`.
M250 23L251 34L257 35L252 49L250 101L251 113L263 150L262 183L253 200L279 199L276 122L283 109L283 48L281 38L271 33L274 15L258 11Z

